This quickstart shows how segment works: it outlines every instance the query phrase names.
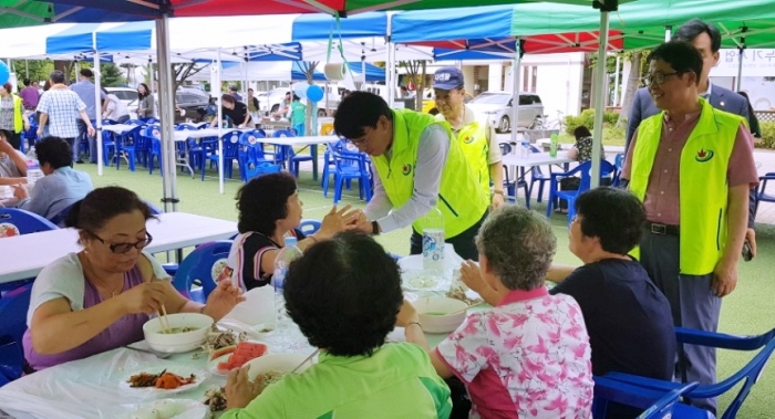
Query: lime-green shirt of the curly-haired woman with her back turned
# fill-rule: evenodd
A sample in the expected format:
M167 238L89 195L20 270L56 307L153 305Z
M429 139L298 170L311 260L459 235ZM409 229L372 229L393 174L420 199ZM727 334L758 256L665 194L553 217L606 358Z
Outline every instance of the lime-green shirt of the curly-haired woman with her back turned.
M221 419L446 419L451 411L450 388L427 353L391 343L370 357L323 352L303 374L286 375Z

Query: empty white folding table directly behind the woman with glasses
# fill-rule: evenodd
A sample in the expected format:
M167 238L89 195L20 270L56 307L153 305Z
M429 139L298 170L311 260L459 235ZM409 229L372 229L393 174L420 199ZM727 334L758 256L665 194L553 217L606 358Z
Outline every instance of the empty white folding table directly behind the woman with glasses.
M165 212L147 222L154 240L148 253L187 248L214 240L229 239L237 233L237 223L187 212ZM0 239L0 283L34 277L51 262L81 250L78 231L59 229Z

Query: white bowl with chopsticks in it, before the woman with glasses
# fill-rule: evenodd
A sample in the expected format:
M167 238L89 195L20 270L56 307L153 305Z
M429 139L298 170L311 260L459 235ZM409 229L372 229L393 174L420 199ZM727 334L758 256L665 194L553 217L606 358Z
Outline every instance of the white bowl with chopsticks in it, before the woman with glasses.
M166 316L169 327L193 327L194 331L165 334L162 323L152 318L143 325L145 342L152 349L167 354L182 354L202 346L207 338L207 332L213 325L213 317L199 313L178 313Z

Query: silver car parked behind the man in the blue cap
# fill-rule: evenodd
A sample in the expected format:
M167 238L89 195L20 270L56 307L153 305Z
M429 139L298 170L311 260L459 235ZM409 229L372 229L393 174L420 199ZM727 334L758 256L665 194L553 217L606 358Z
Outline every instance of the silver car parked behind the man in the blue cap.
M468 103L474 112L483 114L498 133L507 133L512 122L513 94L510 92L484 92ZM517 126L529 128L538 116L544 115L544 104L535 93L519 94L519 122Z

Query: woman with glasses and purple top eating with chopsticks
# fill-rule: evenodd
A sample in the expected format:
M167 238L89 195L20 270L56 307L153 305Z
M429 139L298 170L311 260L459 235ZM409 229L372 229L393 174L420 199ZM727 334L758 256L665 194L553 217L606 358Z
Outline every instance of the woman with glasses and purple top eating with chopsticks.
M206 305L184 298L143 252L153 240L145 228L152 217L137 195L120 187L95 189L72 207L66 224L79 230L83 250L45 266L32 286L23 337L31 370L142 341L143 324L162 307L219 320L244 300L229 281Z

